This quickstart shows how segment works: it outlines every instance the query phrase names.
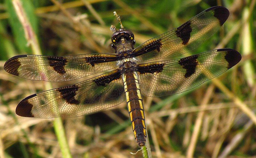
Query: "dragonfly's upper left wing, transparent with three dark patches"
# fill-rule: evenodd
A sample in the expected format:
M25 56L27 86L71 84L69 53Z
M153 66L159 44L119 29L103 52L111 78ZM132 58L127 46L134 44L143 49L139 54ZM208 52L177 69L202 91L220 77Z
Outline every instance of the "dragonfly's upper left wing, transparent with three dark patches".
M30 80L63 82L116 67L115 54L95 53L73 56L19 55L4 64L12 75Z

